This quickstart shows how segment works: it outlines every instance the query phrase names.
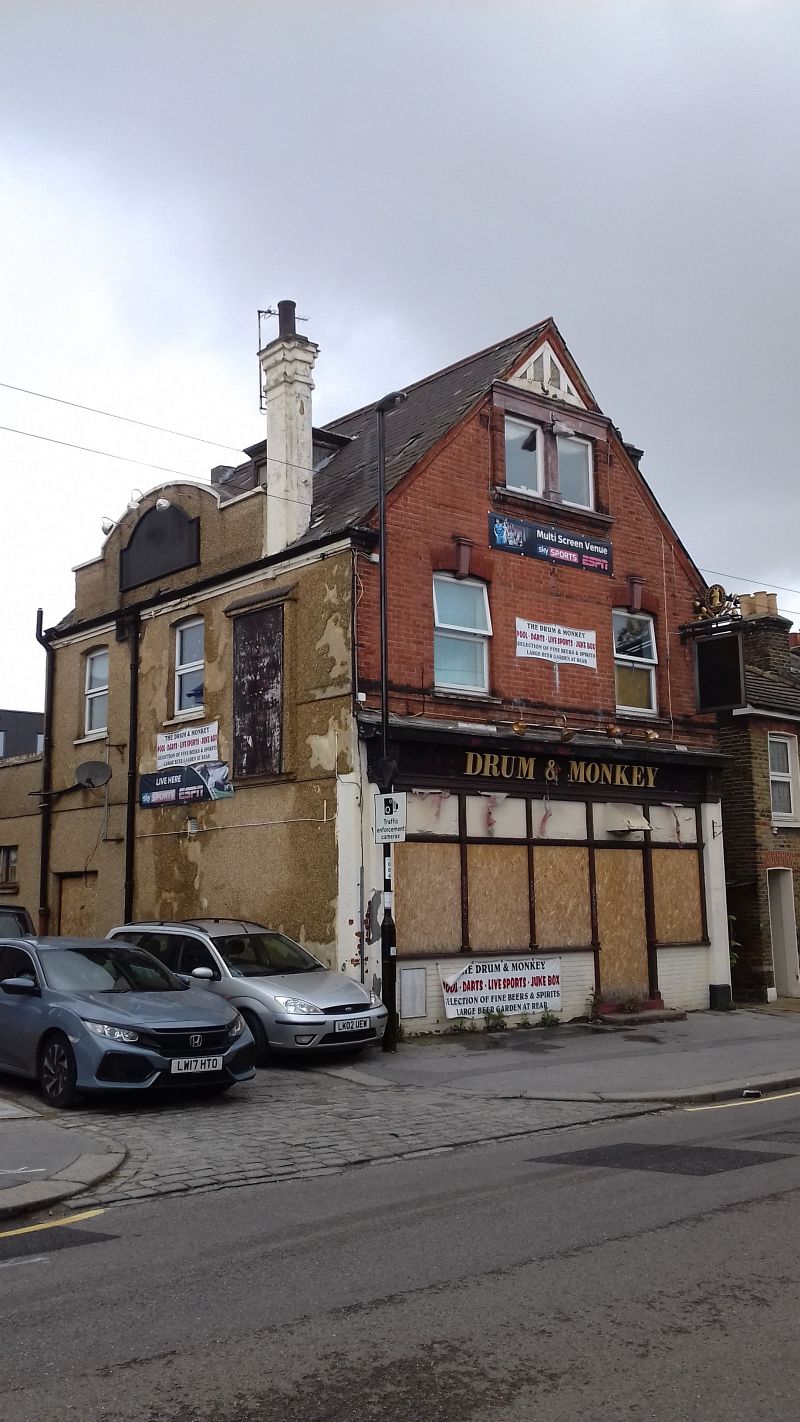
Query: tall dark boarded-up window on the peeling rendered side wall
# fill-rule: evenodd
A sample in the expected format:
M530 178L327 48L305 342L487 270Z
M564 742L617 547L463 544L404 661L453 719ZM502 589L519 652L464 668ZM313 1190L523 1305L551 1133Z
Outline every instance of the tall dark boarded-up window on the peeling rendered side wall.
M283 604L233 621L233 778L279 775L283 749Z

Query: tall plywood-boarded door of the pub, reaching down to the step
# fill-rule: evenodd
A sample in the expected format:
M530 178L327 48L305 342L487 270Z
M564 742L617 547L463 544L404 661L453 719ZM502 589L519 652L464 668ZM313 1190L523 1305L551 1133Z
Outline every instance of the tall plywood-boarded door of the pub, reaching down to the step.
M601 990L647 997L642 852L641 849L598 849L595 866Z

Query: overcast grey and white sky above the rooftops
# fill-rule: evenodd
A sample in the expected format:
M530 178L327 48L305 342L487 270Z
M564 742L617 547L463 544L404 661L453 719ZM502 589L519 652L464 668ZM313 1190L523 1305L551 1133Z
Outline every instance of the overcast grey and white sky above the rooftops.
M207 479L554 316L709 580L800 623L797 0L0 0L0 425ZM168 475L0 431L0 705ZM713 574L713 576L710 576ZM722 576L719 576L722 574ZM750 582L746 582L749 579Z

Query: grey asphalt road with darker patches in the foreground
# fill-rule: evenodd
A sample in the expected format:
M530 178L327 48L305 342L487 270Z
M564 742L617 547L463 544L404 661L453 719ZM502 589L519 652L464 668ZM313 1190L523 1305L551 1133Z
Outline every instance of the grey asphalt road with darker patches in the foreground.
M800 1095L0 1237L3 1422L794 1419Z

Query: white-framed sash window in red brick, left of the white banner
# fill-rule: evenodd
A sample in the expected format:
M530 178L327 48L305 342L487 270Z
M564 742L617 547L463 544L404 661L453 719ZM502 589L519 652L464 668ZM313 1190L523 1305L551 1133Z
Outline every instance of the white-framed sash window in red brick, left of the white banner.
M486 583L433 577L433 681L452 691L489 690L492 619Z

